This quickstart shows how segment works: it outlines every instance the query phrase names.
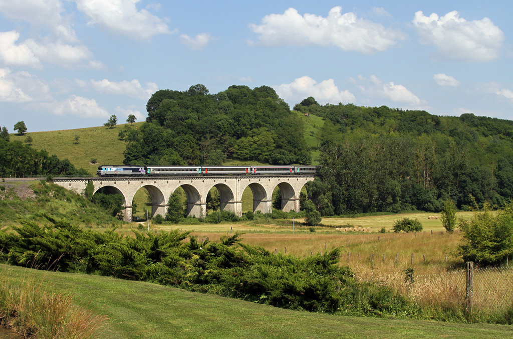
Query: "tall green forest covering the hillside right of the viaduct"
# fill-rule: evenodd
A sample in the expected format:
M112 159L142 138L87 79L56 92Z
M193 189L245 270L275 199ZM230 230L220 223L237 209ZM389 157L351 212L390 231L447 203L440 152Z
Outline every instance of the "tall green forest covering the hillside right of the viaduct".
M498 207L513 193L513 122L352 104L294 109L325 118L321 178L309 197L323 215Z

